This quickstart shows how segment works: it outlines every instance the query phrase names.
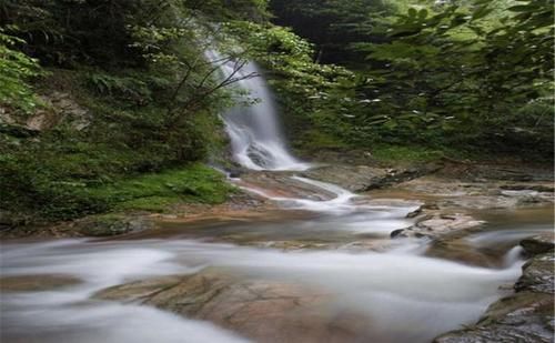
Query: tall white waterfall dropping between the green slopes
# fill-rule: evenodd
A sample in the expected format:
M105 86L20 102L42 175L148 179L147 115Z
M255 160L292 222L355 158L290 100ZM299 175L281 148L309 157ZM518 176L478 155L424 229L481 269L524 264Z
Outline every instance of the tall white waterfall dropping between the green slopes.
M206 56L215 63L221 61L223 77L233 75L239 80L235 87L256 99L253 104L239 104L223 114L235 162L252 170L306 170L310 165L286 148L272 93L258 65L248 62L238 70L236 61L222 59L215 51ZM253 74L256 77L249 78Z

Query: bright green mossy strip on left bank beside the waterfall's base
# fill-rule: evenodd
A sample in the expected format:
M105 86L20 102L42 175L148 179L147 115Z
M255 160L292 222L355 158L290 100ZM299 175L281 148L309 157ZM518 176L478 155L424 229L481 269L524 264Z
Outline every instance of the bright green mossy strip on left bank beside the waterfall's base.
M110 211L164 212L175 203L222 203L232 190L222 174L194 163L159 173L121 178L97 186L51 182L42 190L51 195L51 202L41 206L38 214L59 220Z

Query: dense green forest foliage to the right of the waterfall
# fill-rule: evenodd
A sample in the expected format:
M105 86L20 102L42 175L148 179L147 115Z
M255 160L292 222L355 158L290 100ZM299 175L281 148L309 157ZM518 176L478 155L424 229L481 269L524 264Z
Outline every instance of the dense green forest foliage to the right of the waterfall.
M295 128L317 132L301 147L420 144L552 159L552 1L274 0L272 9L316 43L315 59L354 73L312 103L285 91Z

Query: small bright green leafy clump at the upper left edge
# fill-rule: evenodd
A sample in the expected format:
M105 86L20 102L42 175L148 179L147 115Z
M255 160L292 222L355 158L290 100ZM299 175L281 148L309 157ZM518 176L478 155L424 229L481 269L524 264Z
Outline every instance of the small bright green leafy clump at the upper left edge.
M42 74L38 61L14 49L23 43L0 29L0 103L26 112L38 104L29 80Z

